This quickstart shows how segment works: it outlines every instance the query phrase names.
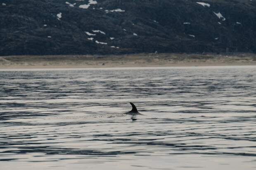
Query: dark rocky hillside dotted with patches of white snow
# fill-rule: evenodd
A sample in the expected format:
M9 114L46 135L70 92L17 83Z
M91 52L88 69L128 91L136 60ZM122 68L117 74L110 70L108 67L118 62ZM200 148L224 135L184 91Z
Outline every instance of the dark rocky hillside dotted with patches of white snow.
M256 52L256 1L0 0L0 56L155 51Z

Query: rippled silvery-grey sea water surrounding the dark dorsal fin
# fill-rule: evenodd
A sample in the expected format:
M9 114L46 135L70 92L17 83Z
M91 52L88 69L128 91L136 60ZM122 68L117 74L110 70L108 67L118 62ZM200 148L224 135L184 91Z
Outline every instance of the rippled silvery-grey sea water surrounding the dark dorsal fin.
M17 169L255 170L256 66L0 70Z

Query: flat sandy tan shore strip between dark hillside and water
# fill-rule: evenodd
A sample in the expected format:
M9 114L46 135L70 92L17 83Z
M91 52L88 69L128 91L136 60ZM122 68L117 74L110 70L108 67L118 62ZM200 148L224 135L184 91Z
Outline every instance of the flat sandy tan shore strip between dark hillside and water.
M1 68L104 68L256 65L256 54L127 54L3 56Z

